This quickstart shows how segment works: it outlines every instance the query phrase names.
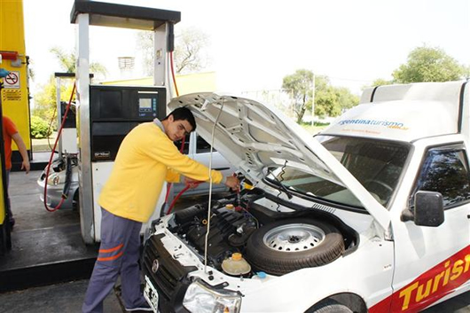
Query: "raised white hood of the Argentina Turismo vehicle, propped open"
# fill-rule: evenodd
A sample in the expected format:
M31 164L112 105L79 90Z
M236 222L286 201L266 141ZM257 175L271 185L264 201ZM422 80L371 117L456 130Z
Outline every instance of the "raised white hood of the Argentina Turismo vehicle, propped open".
M191 109L198 134L254 184L262 180L267 168L287 161L289 167L347 187L382 228L388 229L388 210L323 145L274 107L215 93L184 95L168 104L170 110L179 106Z

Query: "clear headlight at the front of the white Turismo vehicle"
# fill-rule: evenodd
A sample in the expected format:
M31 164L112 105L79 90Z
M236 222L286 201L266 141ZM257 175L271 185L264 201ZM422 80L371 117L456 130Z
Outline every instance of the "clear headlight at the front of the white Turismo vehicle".
M183 305L191 312L238 313L241 295L227 290L214 290L200 281L195 281L188 287Z

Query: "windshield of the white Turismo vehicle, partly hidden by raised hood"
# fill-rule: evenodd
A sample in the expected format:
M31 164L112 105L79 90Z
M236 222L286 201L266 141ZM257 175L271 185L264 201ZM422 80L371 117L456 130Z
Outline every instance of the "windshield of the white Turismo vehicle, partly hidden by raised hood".
M315 138L381 205L388 206L410 151L408 145L356 137ZM317 176L305 168L289 166L289 162L282 167L270 168L266 179L273 184L282 184L286 192L301 192L347 206L362 207L359 200L340 182Z

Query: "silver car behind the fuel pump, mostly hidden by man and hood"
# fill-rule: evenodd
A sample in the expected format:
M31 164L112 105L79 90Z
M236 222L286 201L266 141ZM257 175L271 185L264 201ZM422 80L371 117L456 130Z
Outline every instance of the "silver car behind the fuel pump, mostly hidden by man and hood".
M231 167L231 164L223 158L223 156L217 151L213 150L210 153L210 145L199 137L196 133L192 132L187 138L188 140L184 145L184 154L188 154L190 158L199 161L200 163L208 166L209 159L212 157L212 168L222 171L223 176L230 176L235 172L235 168ZM179 147L180 143L176 143ZM70 164L70 175L67 178L67 161ZM78 161L76 155L68 155L54 160L51 165L49 179L47 180L47 205L49 207L57 207L64 194L64 187L68 182L68 192L66 191L67 199L64 200L60 208L64 209L76 209L78 207L79 192L78 192ZM45 170L41 173L41 176L37 179L37 187L39 190L39 196L41 201L44 200L44 184L45 184ZM184 183L173 184L173 194L176 196L185 187ZM224 192L226 187L223 184L213 185L212 192ZM209 192L209 184L204 183L198 185L194 189L187 189L181 196L195 196L204 195ZM168 203L169 205L169 203Z

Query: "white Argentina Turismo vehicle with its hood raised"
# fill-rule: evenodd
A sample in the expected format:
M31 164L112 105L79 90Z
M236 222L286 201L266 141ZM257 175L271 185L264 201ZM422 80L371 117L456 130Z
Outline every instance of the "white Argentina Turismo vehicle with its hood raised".
M254 188L153 222L153 310L417 312L468 291L465 87L364 90L317 137L247 98L173 99Z

